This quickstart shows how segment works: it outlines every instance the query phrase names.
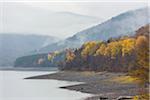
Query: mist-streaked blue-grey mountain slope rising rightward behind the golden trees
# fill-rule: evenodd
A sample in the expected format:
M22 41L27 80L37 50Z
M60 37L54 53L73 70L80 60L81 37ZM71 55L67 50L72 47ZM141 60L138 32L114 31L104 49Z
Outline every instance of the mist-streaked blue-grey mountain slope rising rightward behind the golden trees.
M77 48L87 41L107 40L122 35L133 35L135 30L148 24L149 9L141 8L120 14L112 19L76 33L64 41L50 44L41 48L37 53L64 50L66 48Z

